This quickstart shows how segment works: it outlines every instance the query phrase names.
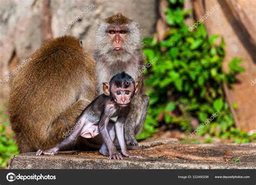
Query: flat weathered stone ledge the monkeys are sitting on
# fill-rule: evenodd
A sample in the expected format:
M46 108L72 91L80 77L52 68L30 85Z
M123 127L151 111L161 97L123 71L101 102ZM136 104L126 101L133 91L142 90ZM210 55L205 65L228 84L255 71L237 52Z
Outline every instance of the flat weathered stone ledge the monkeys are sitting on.
M130 151L143 158L109 160L98 151L60 152L12 158L10 169L256 169L256 144L176 144L173 139L149 139ZM147 147L147 148L146 148ZM239 162L234 162L239 159Z

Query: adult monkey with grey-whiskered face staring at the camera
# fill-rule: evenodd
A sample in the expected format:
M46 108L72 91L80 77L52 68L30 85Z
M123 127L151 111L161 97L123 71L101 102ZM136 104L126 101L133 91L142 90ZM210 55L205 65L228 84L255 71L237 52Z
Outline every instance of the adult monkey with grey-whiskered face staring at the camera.
M147 115L149 97L144 95L144 75L139 73L144 63L141 31L136 20L121 13L99 22L96 31L94 54L97 73L97 94L103 93L102 84L117 73L125 72L140 82L138 95L131 102L131 111L125 123L127 145L138 146L135 139L143 127Z

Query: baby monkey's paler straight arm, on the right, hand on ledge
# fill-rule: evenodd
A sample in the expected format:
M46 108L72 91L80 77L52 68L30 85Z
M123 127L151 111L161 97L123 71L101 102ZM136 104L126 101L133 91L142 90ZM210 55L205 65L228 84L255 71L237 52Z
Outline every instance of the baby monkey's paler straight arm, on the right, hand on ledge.
M124 123L125 117L118 117L116 124L114 125L116 129L117 139L124 156L128 156L129 158L140 158L138 155L131 155L126 147L125 139L124 139Z

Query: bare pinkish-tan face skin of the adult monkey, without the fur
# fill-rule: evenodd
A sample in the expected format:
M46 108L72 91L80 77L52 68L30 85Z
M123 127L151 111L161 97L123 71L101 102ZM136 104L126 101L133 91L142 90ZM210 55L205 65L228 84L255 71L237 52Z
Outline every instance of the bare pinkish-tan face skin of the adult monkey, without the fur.
M106 34L111 41L113 50L117 52L122 51L126 37L129 34L127 27L109 27Z

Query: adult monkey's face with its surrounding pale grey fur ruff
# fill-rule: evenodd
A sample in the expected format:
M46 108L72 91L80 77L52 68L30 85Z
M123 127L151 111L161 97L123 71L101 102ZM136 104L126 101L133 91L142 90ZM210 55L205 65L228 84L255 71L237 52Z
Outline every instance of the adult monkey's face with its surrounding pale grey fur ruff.
M100 21L95 35L95 54L105 62L129 62L142 48L141 31L135 20Z

